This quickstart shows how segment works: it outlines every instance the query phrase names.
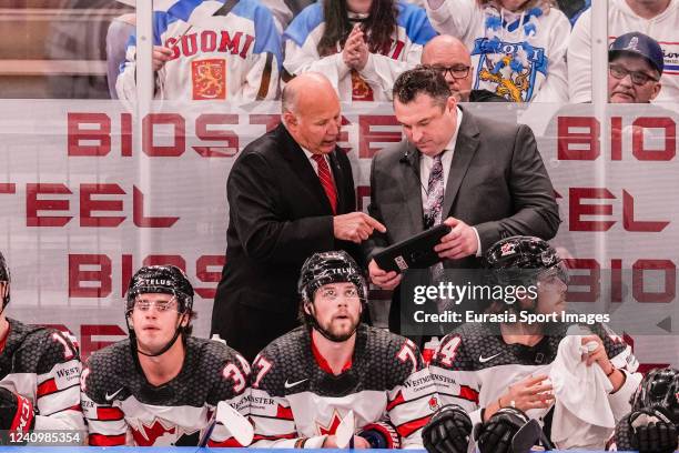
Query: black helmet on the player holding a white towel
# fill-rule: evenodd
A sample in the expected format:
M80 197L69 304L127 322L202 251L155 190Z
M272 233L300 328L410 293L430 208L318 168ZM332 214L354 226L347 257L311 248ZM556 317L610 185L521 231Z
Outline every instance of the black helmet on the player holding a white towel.
M498 284L526 282L546 270L555 268L558 276L568 283L568 272L557 251L535 236L511 236L497 241L484 256L484 268Z

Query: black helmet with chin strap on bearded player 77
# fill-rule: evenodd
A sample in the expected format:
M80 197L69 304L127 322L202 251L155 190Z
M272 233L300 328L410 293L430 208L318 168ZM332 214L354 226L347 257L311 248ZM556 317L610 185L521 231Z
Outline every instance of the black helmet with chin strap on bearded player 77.
M331 341L344 340L334 338L318 325L315 316L312 314L314 295L321 286L340 282L353 283L358 292L361 304L365 308L367 304L367 283L358 264L344 250L314 253L302 265L302 272L297 281L297 292L301 298L300 316L302 321L306 325L316 329ZM308 312L305 310L307 305L312 305Z

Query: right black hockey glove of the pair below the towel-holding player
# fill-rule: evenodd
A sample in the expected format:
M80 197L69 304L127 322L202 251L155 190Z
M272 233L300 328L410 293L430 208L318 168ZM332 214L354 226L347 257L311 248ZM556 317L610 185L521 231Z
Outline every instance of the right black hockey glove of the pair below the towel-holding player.
M478 449L482 453L526 453L513 452L511 441L528 420L528 416L518 409L500 409L487 422L474 426L474 437Z

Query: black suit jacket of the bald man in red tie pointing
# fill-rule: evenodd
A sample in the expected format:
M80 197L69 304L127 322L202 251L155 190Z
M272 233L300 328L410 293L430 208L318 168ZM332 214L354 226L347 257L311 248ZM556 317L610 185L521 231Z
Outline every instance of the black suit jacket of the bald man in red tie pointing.
M337 213L355 211L349 161L330 154ZM306 154L283 124L250 143L226 182L226 264L217 286L212 333L253 360L297 325L297 279L314 252L359 249L333 234L330 201Z

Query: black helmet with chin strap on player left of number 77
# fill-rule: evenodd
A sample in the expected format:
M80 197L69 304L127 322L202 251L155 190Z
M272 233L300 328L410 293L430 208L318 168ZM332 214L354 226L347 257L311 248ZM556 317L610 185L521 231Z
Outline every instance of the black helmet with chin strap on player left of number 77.
M136 335L134 326L130 320L134 310L134 301L139 294L172 294L176 299L178 311L180 314L188 316L185 322L181 318L178 322L172 340L162 348L159 352L149 354L142 352L136 346ZM182 333L190 334L191 316L193 309L193 286L186 278L186 274L174 265L146 265L141 268L130 280L128 286L128 299L125 303L125 319L128 322L128 332L130 333L130 346L132 348L133 356L136 359L136 353L158 356L164 354L176 342Z

